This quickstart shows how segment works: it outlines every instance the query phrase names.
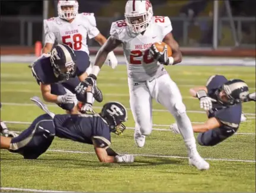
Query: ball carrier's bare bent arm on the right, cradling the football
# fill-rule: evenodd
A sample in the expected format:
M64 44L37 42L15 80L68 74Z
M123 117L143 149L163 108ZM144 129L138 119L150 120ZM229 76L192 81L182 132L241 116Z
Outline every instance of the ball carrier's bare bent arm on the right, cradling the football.
M163 40L164 43L167 43L169 45L169 47L171 47L172 49L172 57L173 57L173 63L172 65L175 65L177 63L180 63L182 60L182 53L180 50L180 46L177 43L177 41L174 39L174 37L172 36L172 33L168 33ZM170 61L172 62L172 61Z

